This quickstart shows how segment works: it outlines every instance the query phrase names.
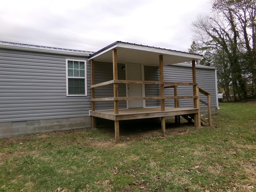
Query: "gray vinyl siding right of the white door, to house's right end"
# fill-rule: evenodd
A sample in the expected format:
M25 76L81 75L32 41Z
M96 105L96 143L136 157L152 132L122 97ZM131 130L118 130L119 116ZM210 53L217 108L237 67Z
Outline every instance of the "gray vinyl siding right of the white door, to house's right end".
M158 67L144 66L145 80L159 81ZM164 81L167 82L192 82L192 68L188 66L164 66ZM215 85L215 70L206 68L196 68L196 82L198 86L211 94L211 106L216 106L216 85ZM192 86L179 85L178 96L192 96ZM174 96L173 88L166 88L164 90L165 96ZM159 85L146 85L146 96L160 96ZM207 97L200 94L200 99L207 102ZM160 106L159 100L146 101L146 107ZM174 100L165 100L165 106L174 107ZM192 99L180 99L180 107L193 107ZM200 104L200 107L206 107Z

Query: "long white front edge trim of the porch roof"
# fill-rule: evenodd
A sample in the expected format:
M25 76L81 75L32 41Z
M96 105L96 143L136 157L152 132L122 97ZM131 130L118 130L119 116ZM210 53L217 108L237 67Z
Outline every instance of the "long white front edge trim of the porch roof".
M175 51L175 50L168 50L168 49L149 47L149 46L143 46L143 45L137 45L137 44L128 44L128 43L124 43L124 42L117 42L116 47L156 52L159 54L166 54L166 55L170 55L170 52L171 52L172 53L171 55L175 55L175 56L183 56L183 57L194 58L194 59L202 59L202 56L192 54L192 53L179 52L179 51Z

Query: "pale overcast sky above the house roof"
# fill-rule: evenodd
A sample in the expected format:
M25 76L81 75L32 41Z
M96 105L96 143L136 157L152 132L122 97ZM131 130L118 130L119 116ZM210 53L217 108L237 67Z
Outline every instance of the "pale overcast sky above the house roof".
M98 51L116 41L188 51L209 0L4 0L0 40Z

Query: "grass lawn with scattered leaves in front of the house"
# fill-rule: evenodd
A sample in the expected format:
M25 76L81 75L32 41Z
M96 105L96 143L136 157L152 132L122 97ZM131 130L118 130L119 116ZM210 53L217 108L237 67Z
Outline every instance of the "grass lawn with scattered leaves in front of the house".
M160 127L0 140L0 191L256 192L255 101L220 103L212 127Z

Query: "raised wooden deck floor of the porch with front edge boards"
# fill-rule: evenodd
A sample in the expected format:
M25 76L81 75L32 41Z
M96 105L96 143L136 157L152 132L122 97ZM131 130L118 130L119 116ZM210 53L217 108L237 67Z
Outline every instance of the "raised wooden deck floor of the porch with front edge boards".
M160 107L131 108L131 109L119 109L118 114L115 114L114 110L90 111L90 116L119 121L119 120L176 116L176 115L185 115L185 114L197 114L198 110L199 110L198 108L171 108L171 107L165 107L164 111L161 111Z

